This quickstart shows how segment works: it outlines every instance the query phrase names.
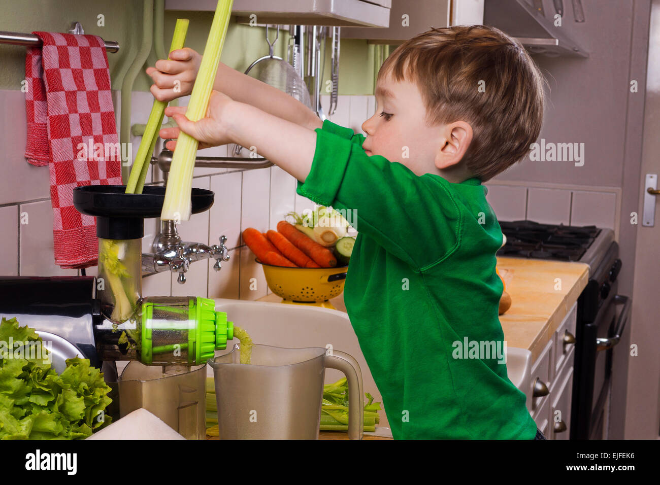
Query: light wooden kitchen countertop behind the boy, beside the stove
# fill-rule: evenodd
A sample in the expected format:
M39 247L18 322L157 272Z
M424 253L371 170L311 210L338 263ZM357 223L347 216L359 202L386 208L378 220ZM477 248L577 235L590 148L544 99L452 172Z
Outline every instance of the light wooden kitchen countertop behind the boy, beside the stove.
M530 350L534 362L587 286L589 266L514 257L498 257L497 261L512 298L510 309L500 315L504 340L507 346ZM258 301L280 302L281 298L269 293ZM346 311L343 294L329 301Z

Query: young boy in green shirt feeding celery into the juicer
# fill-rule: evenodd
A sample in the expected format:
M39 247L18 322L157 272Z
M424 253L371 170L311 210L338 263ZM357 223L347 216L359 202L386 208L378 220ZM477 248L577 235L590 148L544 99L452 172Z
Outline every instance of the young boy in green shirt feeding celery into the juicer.
M159 100L187 94L197 73L191 49L172 58L147 70ZM215 88L204 119L166 115L201 147L255 146L300 195L356 210L345 304L393 436L545 439L502 356L462 348L503 344L502 232L481 183L521 160L541 129L543 77L525 50L486 26L408 40L378 73L366 137L225 65Z

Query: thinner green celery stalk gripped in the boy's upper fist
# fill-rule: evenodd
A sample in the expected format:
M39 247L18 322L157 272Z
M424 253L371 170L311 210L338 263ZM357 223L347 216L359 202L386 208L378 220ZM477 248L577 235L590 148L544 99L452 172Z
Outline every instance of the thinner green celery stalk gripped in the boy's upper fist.
M176 19L170 52L183 48L188 24L189 20L187 18ZM126 183L125 193L142 193L147 172L149 171L151 154L154 152L154 147L156 146L158 130L160 129L160 125L162 125L166 106L166 102L154 100L154 105L151 107L151 113L149 114L149 121L147 121L147 127L145 127L145 133L142 135L140 147L137 149L137 154L135 155L131 175Z

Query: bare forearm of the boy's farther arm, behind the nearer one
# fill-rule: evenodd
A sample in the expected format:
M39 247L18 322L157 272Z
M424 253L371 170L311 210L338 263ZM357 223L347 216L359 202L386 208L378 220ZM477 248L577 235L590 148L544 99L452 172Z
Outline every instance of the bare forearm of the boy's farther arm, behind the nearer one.
M260 110L275 115L307 129L320 128L321 119L310 108L273 86L232 69L222 62L218 65L213 88L224 92L238 102L251 104ZM261 152L260 152L261 153Z

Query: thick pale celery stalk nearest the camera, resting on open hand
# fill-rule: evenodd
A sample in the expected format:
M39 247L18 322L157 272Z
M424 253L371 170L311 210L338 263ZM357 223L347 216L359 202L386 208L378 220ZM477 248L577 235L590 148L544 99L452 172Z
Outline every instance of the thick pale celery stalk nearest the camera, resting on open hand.
M232 13L232 3L232 0L218 0L209 39L204 48L199 73L197 73L190 96L190 104L185 113L185 116L191 121L202 119L209 108L209 98L211 98L215 75L220 63L220 53ZM193 168L195 168L198 145L199 142L190 135L179 133L165 189L165 201L160 214L160 218L163 220L180 222L190 218Z

